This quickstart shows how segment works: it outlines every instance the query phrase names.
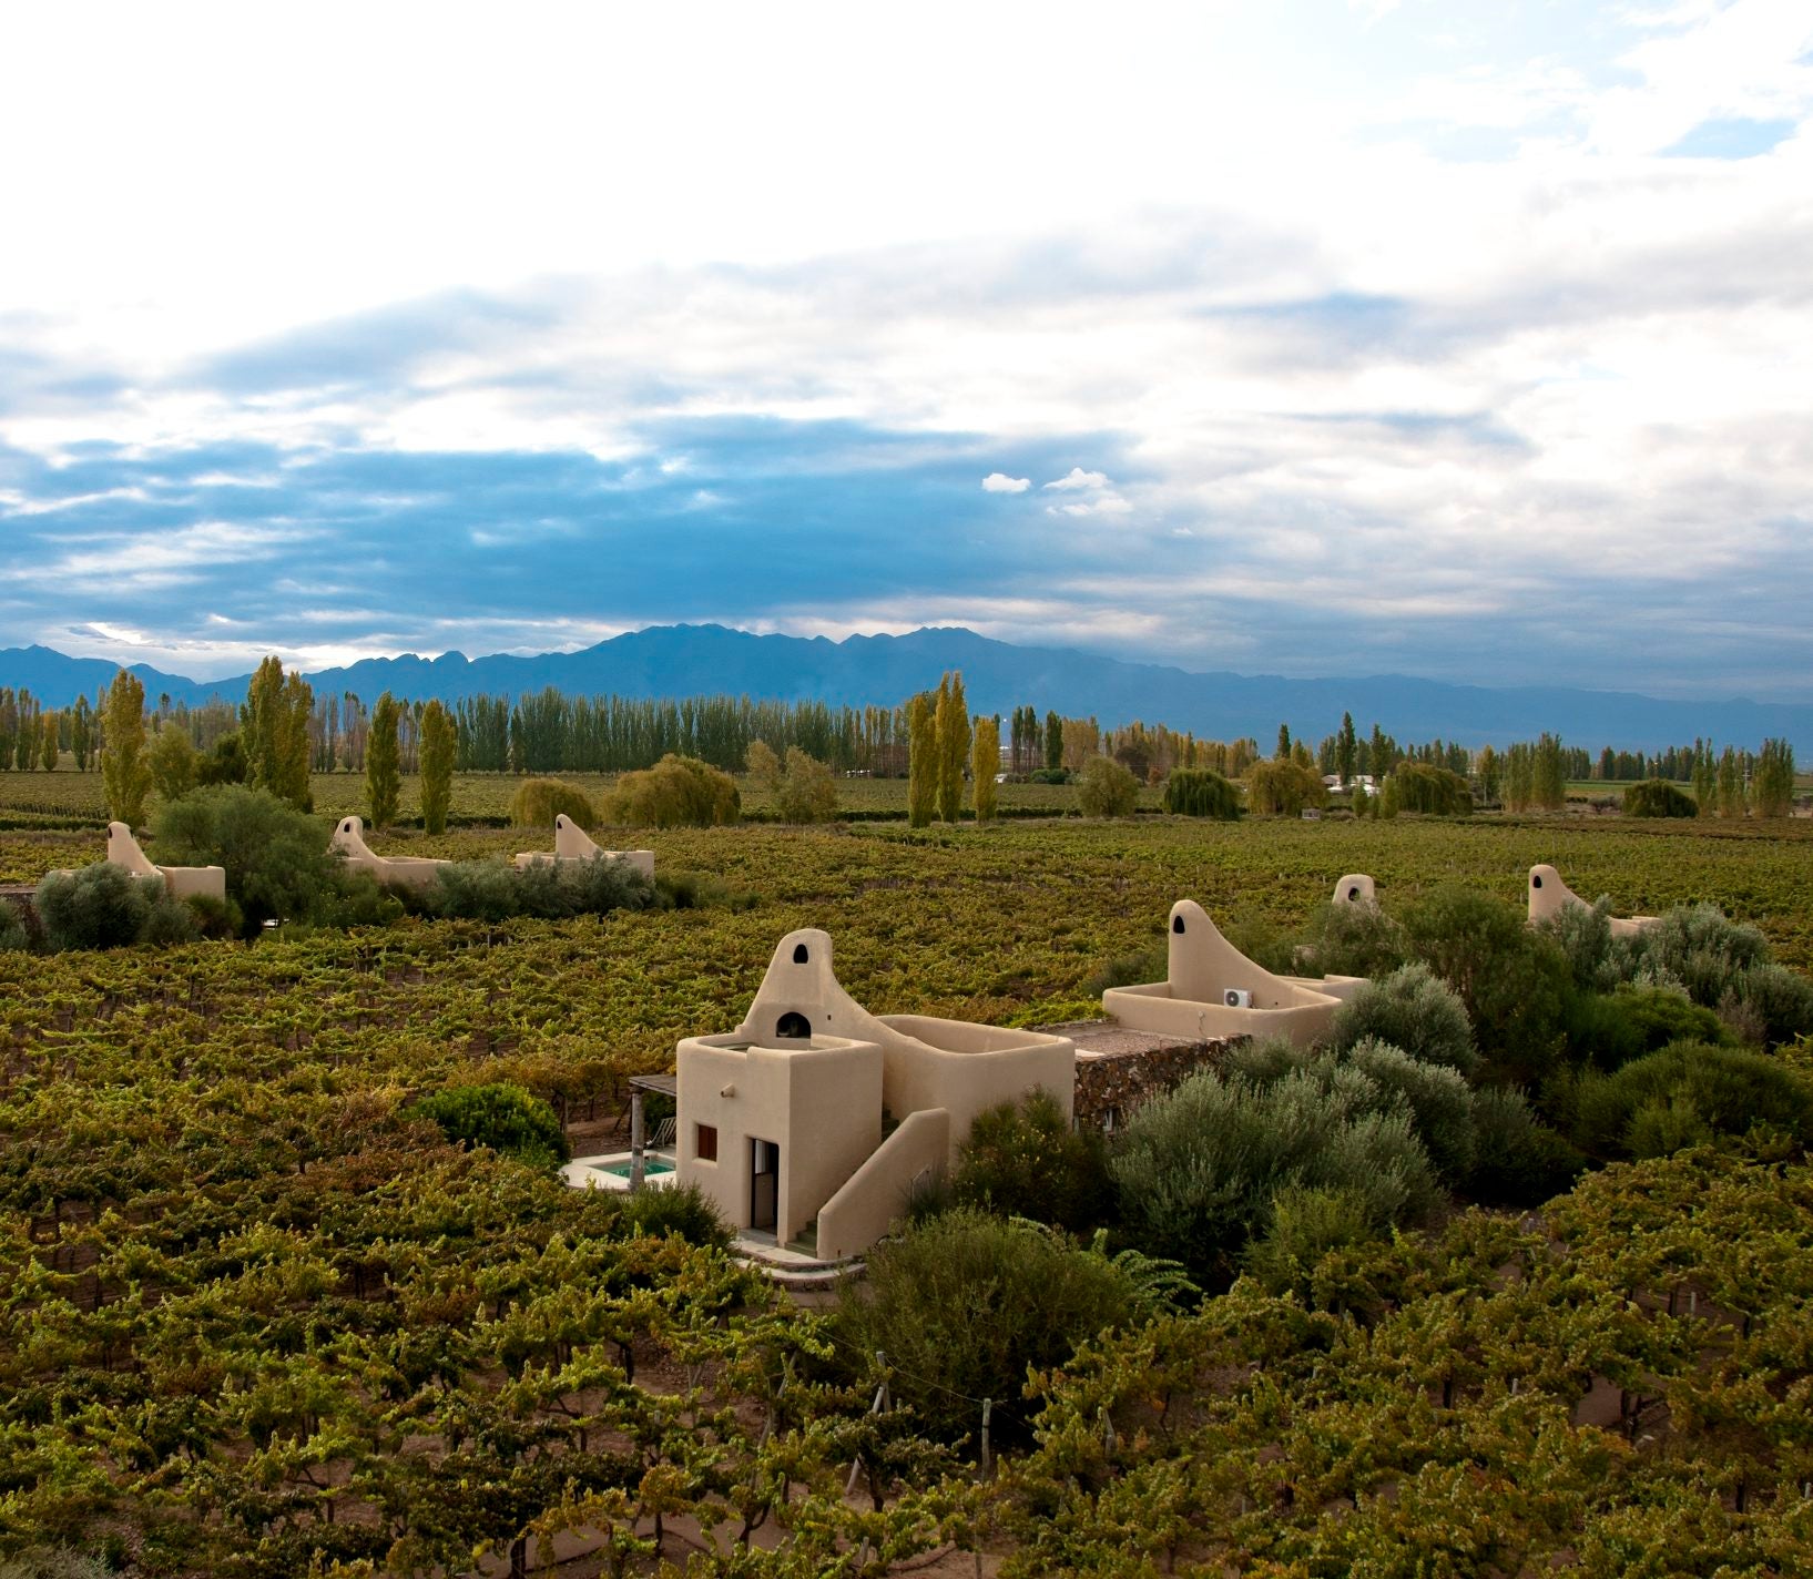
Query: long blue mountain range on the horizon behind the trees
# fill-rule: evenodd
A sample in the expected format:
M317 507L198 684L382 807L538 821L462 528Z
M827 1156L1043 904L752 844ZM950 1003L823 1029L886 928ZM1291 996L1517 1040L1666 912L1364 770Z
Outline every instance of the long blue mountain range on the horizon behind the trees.
M1104 725L1142 718L1189 729L1198 736L1235 740L1251 734L1269 745L1280 723L1293 734L1320 740L1351 711L1362 732L1378 722L1398 740L1452 740L1503 745L1557 731L1568 743L1597 751L1653 751L1711 736L1757 745L1766 736L1793 741L1813 756L1813 705L1769 702L1664 702L1612 691L1523 687L1494 691L1447 685L1401 674L1362 680L1285 680L1276 674L1193 674L1157 664L1122 664L1062 647L1012 647L961 627L912 631L906 636L756 636L723 625L651 625L587 647L519 658L368 658L344 669L323 669L308 680L319 693L352 691L366 702L397 696L453 702L480 693L519 696L553 685L573 694L702 696L747 694L783 702L819 700L838 705L892 707L914 691L961 669L977 712L1008 712L1033 703L1066 714L1093 714ZM210 696L238 702L250 676L214 683L163 674L145 665L132 673L145 694L198 703ZM49 647L0 651L0 685L29 687L53 707L107 685L114 665L100 658L65 658Z

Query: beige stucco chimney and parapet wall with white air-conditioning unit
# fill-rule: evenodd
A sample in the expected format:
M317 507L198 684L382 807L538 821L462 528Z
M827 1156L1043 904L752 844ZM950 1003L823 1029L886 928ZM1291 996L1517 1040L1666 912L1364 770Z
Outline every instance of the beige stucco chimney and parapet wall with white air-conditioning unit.
M1102 1010L1133 1030L1178 1037L1285 1035L1298 1046L1322 1037L1354 977L1273 975L1235 948L1193 899L1171 906L1168 968L1160 983L1110 988ZM1251 1008L1229 1008L1227 990L1253 995Z

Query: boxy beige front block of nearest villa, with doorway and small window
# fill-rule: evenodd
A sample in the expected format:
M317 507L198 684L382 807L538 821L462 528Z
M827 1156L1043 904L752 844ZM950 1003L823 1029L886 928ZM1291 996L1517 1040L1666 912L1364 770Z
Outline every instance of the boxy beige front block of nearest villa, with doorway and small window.
M676 1051L678 1178L698 1184L738 1229L751 1220L751 1140L780 1148L774 1236L796 1238L881 1144L881 1050L847 1037L763 1046L689 1037ZM698 1155L698 1126L718 1160Z

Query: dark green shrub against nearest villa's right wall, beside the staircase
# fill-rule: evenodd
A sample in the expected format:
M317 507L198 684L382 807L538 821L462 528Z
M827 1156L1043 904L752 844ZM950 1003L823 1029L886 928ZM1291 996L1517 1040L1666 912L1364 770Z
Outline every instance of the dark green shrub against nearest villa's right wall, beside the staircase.
M975 1115L957 1149L950 1196L957 1206L1073 1233L1113 1218L1113 1178L1100 1135L1071 1129L1042 1088Z

